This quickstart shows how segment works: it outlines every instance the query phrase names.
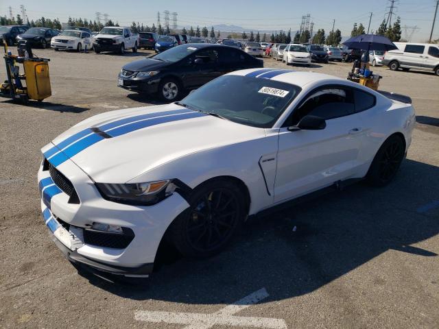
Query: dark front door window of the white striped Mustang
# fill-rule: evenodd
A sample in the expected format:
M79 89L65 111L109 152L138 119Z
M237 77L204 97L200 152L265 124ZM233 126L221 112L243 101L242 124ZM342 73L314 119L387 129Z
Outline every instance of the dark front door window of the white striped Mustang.
M353 90L348 88L325 88L313 92L296 108L287 125L297 125L300 119L314 115L325 120L345 117L355 113Z

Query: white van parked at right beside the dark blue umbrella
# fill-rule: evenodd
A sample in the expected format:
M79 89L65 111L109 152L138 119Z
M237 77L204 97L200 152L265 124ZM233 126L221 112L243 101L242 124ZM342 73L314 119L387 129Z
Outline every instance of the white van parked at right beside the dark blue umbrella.
M389 66L391 70L418 69L434 71L439 75L439 45L414 42L394 42L394 44L398 49L384 54L383 65Z

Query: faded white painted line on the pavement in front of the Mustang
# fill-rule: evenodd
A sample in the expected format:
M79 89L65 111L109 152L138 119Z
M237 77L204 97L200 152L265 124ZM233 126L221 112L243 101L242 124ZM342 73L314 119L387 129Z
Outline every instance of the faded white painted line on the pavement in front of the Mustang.
M274 319L270 317L237 317L234 315L268 296L267 290L262 288L212 314L140 310L136 312L134 319L154 323L183 324L187 325L185 329L209 329L215 325L286 329L287 324L284 319Z

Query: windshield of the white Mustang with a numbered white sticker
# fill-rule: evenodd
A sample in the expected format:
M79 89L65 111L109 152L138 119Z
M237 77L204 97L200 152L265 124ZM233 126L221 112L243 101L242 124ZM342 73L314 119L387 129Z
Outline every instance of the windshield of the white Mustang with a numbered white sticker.
M294 84L274 80L223 75L198 88L181 103L243 125L268 128L300 90Z

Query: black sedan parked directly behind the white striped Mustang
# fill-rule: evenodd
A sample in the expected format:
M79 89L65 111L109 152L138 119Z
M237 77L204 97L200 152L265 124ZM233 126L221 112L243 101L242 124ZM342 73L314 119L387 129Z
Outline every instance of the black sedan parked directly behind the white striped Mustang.
M158 94L164 101L179 99L191 90L228 72L263 67L263 60L223 45L189 43L123 66L121 88Z

